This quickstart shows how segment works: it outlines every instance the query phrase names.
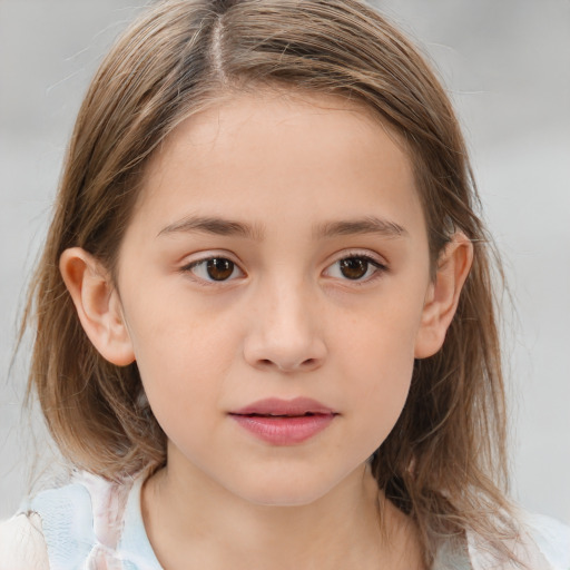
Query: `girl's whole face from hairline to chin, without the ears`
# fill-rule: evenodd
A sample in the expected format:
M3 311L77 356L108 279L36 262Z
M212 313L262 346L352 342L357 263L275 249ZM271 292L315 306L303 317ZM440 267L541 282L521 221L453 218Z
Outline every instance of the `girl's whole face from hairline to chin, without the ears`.
M424 352L411 165L341 99L243 96L187 119L149 165L118 275L168 469L256 503L361 476Z

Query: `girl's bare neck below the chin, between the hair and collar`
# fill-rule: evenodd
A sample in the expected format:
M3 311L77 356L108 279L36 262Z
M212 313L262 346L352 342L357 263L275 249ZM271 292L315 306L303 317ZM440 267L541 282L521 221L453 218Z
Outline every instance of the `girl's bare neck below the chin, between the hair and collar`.
M150 542L167 570L222 568L420 568L406 518L364 465L309 504L253 504L205 475L190 482L165 468L144 488ZM411 546L413 548L411 548ZM413 552L413 557L407 554Z

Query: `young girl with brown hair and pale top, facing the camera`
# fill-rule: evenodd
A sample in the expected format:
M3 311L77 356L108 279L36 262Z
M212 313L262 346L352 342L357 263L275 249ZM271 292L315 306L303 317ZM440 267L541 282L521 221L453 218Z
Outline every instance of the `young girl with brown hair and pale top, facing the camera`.
M72 481L0 568L569 568L503 494L476 204L365 4L156 4L87 94L28 305Z

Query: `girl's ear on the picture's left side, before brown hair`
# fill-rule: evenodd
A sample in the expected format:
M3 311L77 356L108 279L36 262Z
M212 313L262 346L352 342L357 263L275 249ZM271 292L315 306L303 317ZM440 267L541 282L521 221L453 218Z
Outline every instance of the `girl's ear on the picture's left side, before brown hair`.
M101 356L126 366L135 361L119 294L109 272L80 247L66 249L59 271L73 299L81 325Z

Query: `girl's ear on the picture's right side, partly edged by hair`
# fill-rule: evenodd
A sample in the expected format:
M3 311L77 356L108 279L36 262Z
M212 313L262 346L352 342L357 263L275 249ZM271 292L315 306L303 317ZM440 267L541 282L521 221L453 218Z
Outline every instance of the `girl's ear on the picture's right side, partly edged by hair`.
M455 233L438 259L435 278L425 296L415 358L433 356L442 347L472 263L473 244L462 232Z

